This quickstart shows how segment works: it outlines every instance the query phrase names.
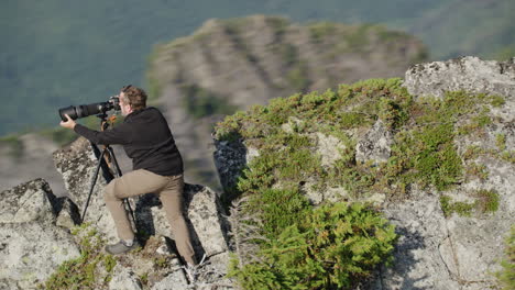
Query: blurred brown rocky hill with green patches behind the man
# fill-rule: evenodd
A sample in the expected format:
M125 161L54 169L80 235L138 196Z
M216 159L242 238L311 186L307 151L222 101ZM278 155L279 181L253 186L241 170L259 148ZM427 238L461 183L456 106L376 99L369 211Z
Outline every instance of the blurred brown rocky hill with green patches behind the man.
M206 144L221 116L272 98L402 77L426 56L419 40L379 25L300 25L264 15L211 20L193 35L156 47L150 91L185 153L186 176L212 186L212 150Z

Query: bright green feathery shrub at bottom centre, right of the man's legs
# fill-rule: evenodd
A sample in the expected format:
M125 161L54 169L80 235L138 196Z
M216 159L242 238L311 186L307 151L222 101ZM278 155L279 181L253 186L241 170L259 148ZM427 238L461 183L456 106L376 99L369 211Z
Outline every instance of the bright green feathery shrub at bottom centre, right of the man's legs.
M263 263L230 276L243 289L352 289L390 261L394 226L363 204L335 203L310 211L262 248Z

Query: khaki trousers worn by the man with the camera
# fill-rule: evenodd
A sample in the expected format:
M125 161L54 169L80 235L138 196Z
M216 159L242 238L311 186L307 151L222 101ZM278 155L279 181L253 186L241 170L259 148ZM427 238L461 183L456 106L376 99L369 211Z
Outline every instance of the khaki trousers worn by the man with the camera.
M187 263L195 265L191 237L183 213L183 175L160 176L149 170L139 169L113 179L106 187L103 198L114 220L118 236L121 239L134 238L134 232L122 200L144 193L155 193L163 203L180 256Z

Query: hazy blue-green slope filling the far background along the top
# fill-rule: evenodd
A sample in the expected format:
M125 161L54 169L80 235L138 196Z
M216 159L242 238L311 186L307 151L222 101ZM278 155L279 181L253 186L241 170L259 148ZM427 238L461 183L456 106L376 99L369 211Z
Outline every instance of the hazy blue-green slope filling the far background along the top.
M285 15L295 22L384 23L428 44L430 58L515 55L513 0L0 1L0 135L55 125L56 110L144 83L154 44L208 19Z

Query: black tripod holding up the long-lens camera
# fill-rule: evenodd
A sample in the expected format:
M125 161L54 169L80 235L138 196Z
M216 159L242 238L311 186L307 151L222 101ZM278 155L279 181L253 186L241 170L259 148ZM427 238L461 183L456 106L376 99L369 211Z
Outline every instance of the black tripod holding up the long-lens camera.
M106 112L102 112L98 114L97 116L100 118L100 130L101 131L107 130L109 127L109 123L106 120L107 119ZM94 149L95 156L98 159L98 164L95 170L94 178L91 180L91 186L89 187L89 194L86 201L86 205L84 207L83 215L80 216L80 223L84 222L84 219L86 216L86 211L88 210L89 200L91 199L92 190L95 188L95 185L97 183L97 178L100 171L100 167L102 168L102 176L106 179L107 183L111 182L112 179L122 176L120 166L118 165L117 157L114 156L114 150L112 149L112 147L109 145L103 145L103 149L102 152L100 152L100 149L98 148L96 144L91 142L90 144ZM113 166L114 168L112 168ZM132 221L134 222L134 225L135 225L134 211L132 211L129 200L123 199L123 204L125 207L125 210L129 210L129 213L131 214Z

